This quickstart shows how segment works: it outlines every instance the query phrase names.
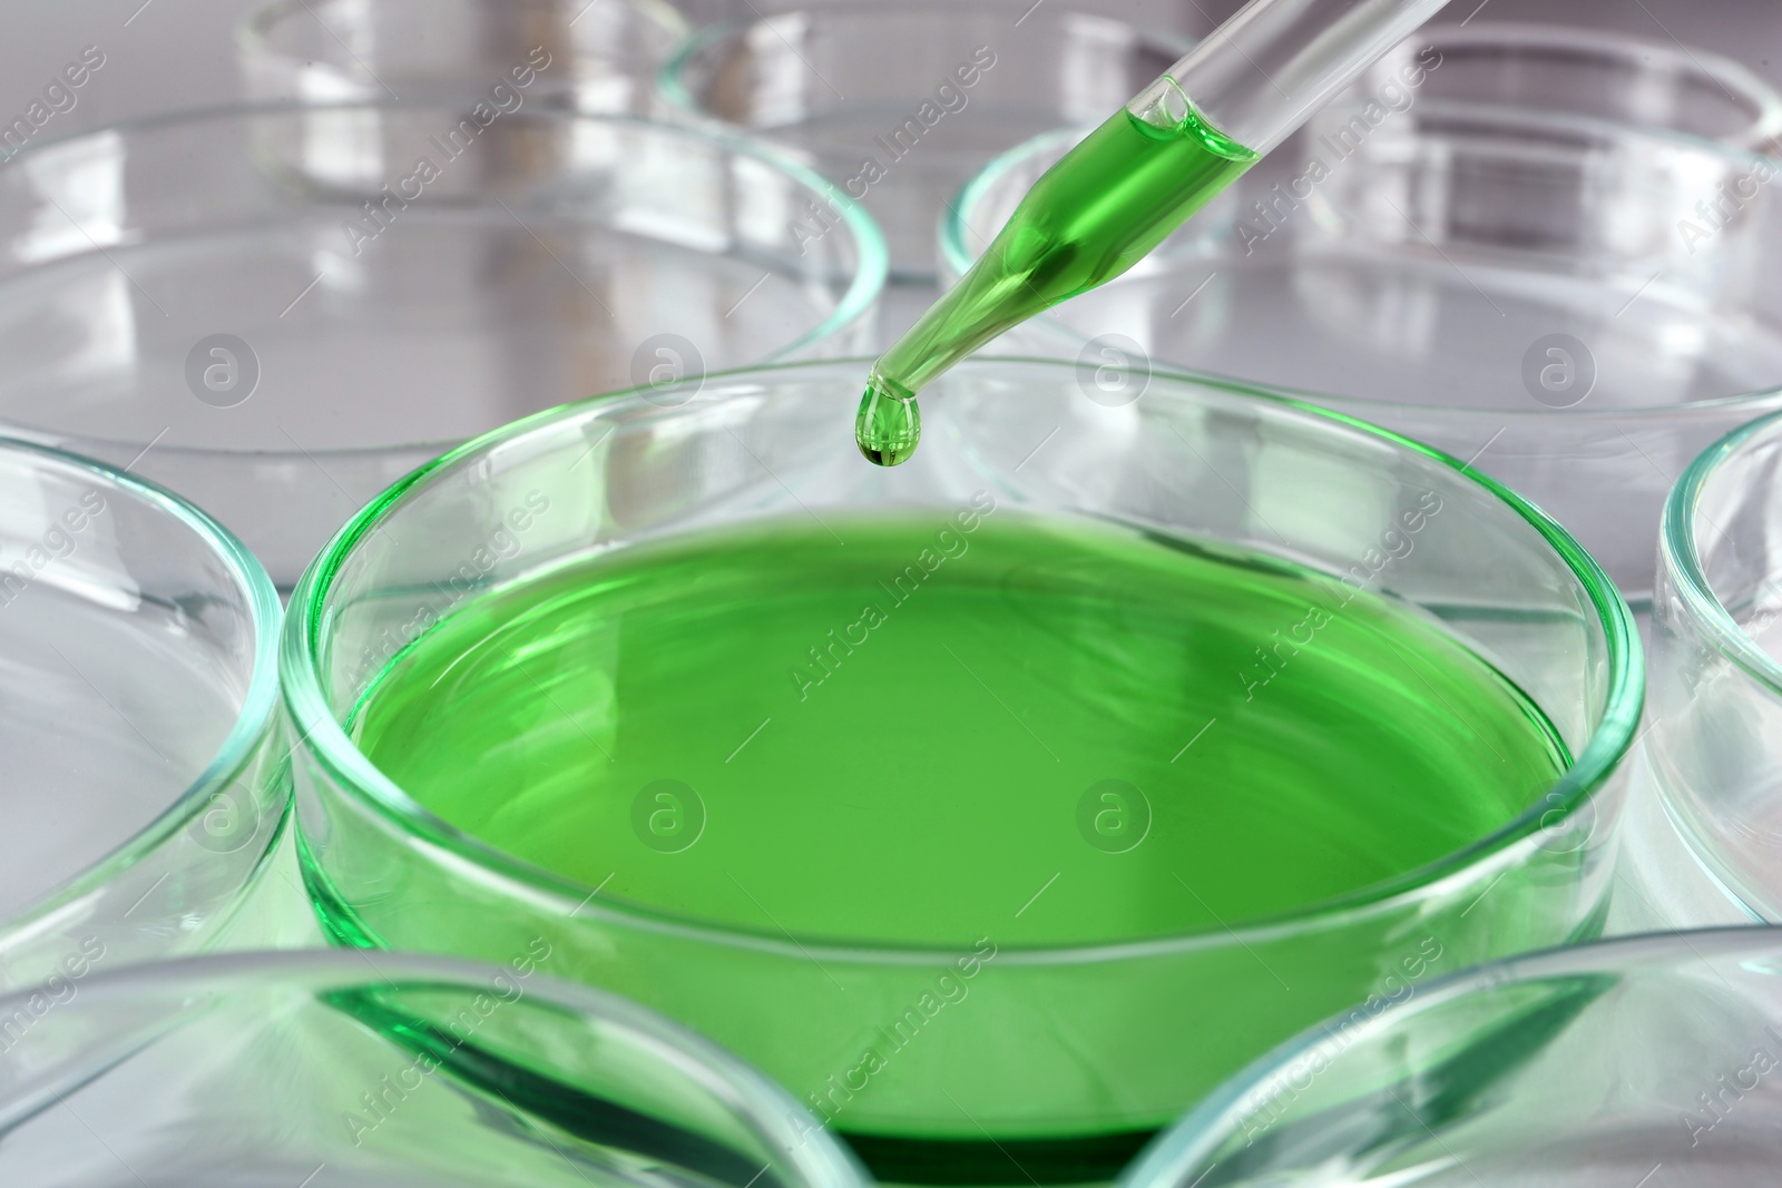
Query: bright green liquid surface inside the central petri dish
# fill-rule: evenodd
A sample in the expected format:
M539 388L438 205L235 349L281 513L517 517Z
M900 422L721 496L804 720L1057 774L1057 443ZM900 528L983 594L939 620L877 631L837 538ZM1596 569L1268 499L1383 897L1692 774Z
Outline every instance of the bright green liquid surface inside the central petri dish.
M470 604L351 730L451 825L609 898L966 946L1288 912L1486 835L1565 764L1492 668L1333 579L982 495L829 529Z

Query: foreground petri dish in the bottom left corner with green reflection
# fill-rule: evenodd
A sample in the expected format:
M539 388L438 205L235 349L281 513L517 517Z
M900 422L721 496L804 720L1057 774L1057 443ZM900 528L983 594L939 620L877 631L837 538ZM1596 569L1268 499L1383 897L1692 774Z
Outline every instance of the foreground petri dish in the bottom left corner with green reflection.
M0 1176L43 1188L857 1188L729 1053L499 965L242 953L69 971L0 999ZM756 1177L756 1179L750 1179Z

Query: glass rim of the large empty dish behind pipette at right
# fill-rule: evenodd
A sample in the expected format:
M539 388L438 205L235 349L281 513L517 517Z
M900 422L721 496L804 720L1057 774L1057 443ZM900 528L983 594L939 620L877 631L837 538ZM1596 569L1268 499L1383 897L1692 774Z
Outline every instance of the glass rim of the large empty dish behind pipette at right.
M1426 107L1433 110L1467 110L1472 114L1492 116L1493 119L1502 119L1504 123L1522 123L1525 126L1541 128L1559 128L1566 132L1575 132L1581 135L1593 137L1618 137L1618 139L1643 139L1657 141L1664 146L1682 148L1689 151L1707 153L1714 157L1725 157L1745 166L1753 166L1759 160L1770 162L1777 171L1782 171L1782 155L1766 155L1757 150L1736 148L1720 141L1707 141L1688 132L1672 132L1666 128L1631 128L1607 119L1595 119L1591 116L1574 116L1574 114L1540 114L1531 116L1515 107L1502 107L1495 103L1474 103L1474 102L1454 102L1454 100L1426 100ZM1778 119L1782 119L1782 110L1778 110ZM1041 132L1039 135L1016 144L1003 153L998 153L984 169L973 176L969 182L959 187L953 201L941 210L936 219L936 235L939 239L941 260L953 276L962 276L969 269L977 256L966 249L966 210L971 210L982 201L984 194L993 187L1000 185L1003 176L1016 166L1023 164L1028 157L1041 155L1053 148L1069 148L1078 139L1082 139L1087 128L1053 128L1051 132ZM1044 319L1048 313L1041 312L1037 319ZM1037 321L1035 319L1035 321ZM1317 404L1320 399L1331 399L1329 394L1319 394L1304 388L1274 387L1276 392L1288 392L1304 403ZM1365 395L1344 395L1340 397L1345 406L1367 408L1367 410L1413 410L1420 413L1440 413L1445 417L1492 417L1495 420L1508 420L1516 424L1534 424L1543 419L1552 419L1554 413L1549 411L1518 411L1502 410L1483 404L1420 404L1410 401L1379 401ZM1732 395L1716 395L1705 401L1686 401L1680 404L1639 404L1631 408L1566 408L1565 417L1579 420L1614 420L1638 424L1641 420L1659 420L1664 417L1688 415L1691 410L1725 410L1739 408L1748 404L1752 415L1761 415L1770 410L1782 410L1782 383L1771 385L1768 388L1752 388L1750 392L1734 392Z

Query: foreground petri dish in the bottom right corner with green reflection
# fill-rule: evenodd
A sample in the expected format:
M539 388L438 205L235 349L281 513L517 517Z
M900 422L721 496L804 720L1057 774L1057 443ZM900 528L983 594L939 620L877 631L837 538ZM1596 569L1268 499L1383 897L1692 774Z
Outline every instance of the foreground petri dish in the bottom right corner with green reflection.
M1768 1184L1778 976L1777 930L1723 928L1370 1001L1221 1086L1119 1183Z

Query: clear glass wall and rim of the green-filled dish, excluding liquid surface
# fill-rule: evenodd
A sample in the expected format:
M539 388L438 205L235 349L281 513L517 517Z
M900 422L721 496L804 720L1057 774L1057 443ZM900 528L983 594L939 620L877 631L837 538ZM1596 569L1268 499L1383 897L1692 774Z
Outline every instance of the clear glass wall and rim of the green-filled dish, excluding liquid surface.
M1053 1183L1107 1179L1256 1053L1402 974L1426 939L1458 969L1600 926L1618 768L1643 700L1639 643L1609 581L1541 513L1456 460L1310 406L1028 360L950 372L921 454L884 472L850 449L862 370L740 370L672 401L645 390L552 410L429 465L335 538L294 593L283 639L285 704L305 739L305 880L335 942L488 956L545 935L560 972L688 1022L800 1099L834 1092L952 951L754 933L583 887L429 814L340 723L429 623L590 550L788 511L950 508L978 488L1018 511L1354 570L1492 657L1577 761L1470 850L1287 917L1001 946L973 985L971 1026L879 1070L873 1094L836 1119L882 1179L1007 1183L1010 1158ZM1110 401L1103 385L1142 399ZM1369 577L1365 557L1427 492L1442 515ZM716 814L706 828L720 828ZM1221 1024L1176 1026L1183 1017Z

